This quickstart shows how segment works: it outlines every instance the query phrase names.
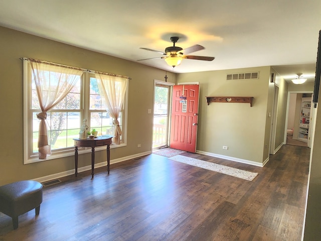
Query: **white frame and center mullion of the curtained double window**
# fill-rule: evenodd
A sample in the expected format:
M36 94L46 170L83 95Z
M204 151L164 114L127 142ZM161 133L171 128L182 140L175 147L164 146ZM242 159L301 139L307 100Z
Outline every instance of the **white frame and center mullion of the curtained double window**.
M54 160L63 157L69 157L75 155L75 148L70 147L67 149L63 149L61 151L52 152L52 155L48 155L47 159L39 159L38 154L35 156L30 155L30 145L33 145L33 119L32 115L30 116L30 108L31 108L31 70L28 66L27 61L23 61L23 108L24 108L24 164L36 163L41 161ZM89 111L89 84L90 84L90 74L85 71L81 76L81 106L80 106L80 122L82 119L87 119L87 124L90 127L90 111ZM128 115L128 86L125 93L125 99L123 103L123 111L122 111L122 140L123 142L119 145L111 144L110 148L119 148L127 146L127 115ZM80 123L81 126L81 123ZM106 150L106 147L97 147L96 151ZM91 148L78 148L78 154L91 153Z

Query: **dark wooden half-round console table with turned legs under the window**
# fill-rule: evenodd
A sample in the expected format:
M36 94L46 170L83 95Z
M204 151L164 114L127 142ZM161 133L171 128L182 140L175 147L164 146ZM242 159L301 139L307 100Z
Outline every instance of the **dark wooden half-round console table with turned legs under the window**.
M107 172L109 174L110 164L110 144L112 136L96 137L94 139L73 139L75 146L75 176L78 172L78 147L91 147L91 177L94 178L94 166L95 166L95 147L107 146Z

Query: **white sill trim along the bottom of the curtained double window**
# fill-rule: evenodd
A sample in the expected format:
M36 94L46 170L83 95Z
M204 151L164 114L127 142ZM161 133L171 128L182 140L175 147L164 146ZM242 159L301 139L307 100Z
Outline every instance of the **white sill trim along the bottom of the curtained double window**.
M110 149L125 147L125 146L127 146L127 144L125 144L125 143L122 143L119 145L111 144ZM106 150L106 146L95 148L95 152L99 152L99 151L103 151L103 150ZM78 155L85 154L85 153L91 153L91 148L78 149ZM38 156L37 156L37 158L25 159L24 164L49 161L49 160L54 160L54 159L58 159L58 158L70 157L70 156L74 156L74 155L75 155L74 149L71 149L70 151L67 151L64 153L57 153L57 154L50 155L47 157L47 159L39 159Z

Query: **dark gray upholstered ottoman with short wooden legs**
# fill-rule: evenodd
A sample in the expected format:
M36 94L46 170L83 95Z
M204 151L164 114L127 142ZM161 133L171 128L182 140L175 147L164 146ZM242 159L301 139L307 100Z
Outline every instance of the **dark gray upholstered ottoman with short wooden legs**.
M42 203L42 184L36 181L19 181L0 187L0 212L12 217L18 228L19 215L35 208L39 215Z

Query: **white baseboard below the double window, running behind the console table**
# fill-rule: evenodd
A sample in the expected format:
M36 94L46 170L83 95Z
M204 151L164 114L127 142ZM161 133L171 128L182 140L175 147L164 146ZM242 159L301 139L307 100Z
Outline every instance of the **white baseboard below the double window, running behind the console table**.
M118 158L118 159L113 159L113 160L110 160L110 164L127 161L127 160L130 160L130 159L146 156L146 155L149 155L149 154L151 154L151 151L138 153L138 154L135 154L135 155L122 157L122 158ZM107 166L107 161L95 164L95 168L104 167L104 166ZM88 170L91 170L91 165L78 168L78 173L84 172L84 171L88 171ZM106 170L106 172L107 172L107 170ZM60 173L55 173L55 174L44 176L44 177L35 178L33 180L38 181L38 182L46 182L46 181L58 179L58 178L61 178L61 177L66 177L66 176L69 176L69 175L72 175L72 174L75 174L75 169L64 171L64 172L60 172Z

